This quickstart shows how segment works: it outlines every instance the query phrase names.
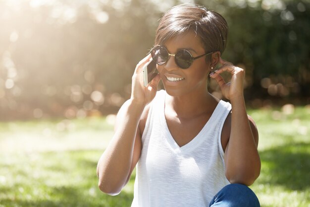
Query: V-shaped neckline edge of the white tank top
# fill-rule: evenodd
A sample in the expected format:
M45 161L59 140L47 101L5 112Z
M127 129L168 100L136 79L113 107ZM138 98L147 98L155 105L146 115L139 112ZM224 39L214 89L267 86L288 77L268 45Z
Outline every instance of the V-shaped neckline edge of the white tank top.
M220 105L222 102L222 100L220 100L218 102L218 104L216 105L214 111L212 112L212 115L210 116L210 118L208 119L207 123L205 124L205 126L201 129L201 131L192 139L190 140L188 143L184 144L183 146L179 146L178 143L175 141L175 139L173 138L168 125L167 125L167 120L166 120L166 116L165 116L165 97L166 94L164 94L163 96L163 103L161 103L160 105L162 106L161 111L160 111L160 116L161 116L161 126L163 127L163 131L165 132L165 137L167 138L166 140L168 141L170 147L173 149L173 151L175 151L176 153L182 153L182 152L186 152L186 151L190 151L191 149L193 149L195 146L198 146L202 141L205 140L205 134L207 133L207 129L209 128L210 123L212 123L214 121L215 114L217 110L220 110Z

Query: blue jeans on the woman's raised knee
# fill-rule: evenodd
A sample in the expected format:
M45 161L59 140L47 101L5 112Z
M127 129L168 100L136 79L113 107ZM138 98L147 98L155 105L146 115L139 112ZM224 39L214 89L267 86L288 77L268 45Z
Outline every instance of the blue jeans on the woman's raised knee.
M260 207L260 204L249 187L229 184L214 196L209 207Z

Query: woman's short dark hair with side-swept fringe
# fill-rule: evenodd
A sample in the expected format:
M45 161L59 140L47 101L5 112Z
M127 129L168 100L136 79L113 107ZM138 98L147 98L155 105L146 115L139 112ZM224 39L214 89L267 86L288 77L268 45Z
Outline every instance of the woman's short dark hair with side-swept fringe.
M155 45L168 39L195 31L201 38L205 52L224 52L227 44L228 25L223 16L198 4L173 6L159 20Z

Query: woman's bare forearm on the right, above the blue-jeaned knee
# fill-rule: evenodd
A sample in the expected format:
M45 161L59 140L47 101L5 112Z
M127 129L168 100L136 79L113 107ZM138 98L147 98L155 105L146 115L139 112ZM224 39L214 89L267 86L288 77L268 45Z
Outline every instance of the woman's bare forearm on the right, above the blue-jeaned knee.
M243 96L231 99L231 104L231 133L225 152L226 176L231 182L251 185L260 172L258 136L252 132Z

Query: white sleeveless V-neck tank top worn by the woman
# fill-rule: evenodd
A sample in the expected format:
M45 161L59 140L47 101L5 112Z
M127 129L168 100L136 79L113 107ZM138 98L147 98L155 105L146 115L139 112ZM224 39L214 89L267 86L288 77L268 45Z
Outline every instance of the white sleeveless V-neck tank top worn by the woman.
M231 105L220 101L201 132L179 147L167 127L165 94L157 91L150 106L131 207L208 207L229 184L221 131Z

